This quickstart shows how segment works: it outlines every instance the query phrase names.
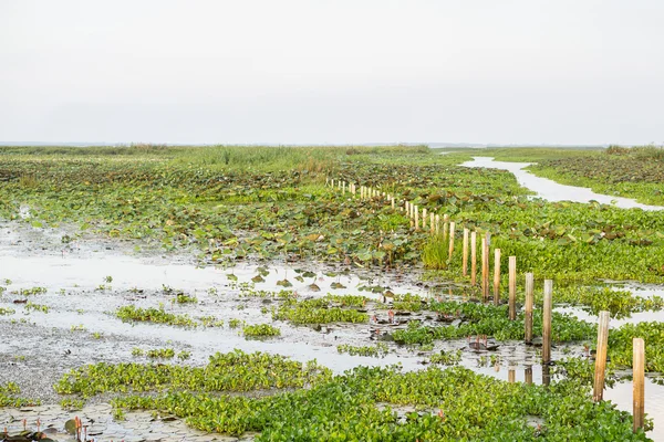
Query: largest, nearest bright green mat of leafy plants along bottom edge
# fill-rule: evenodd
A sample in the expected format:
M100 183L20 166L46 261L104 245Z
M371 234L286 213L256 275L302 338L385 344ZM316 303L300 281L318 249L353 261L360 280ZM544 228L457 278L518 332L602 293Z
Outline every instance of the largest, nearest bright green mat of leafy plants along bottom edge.
M270 397L168 391L122 397L114 404L175 413L207 432L260 432L257 441L647 440L632 433L629 413L609 402L593 404L582 383L507 383L459 367L406 373L357 368ZM421 411L402 419L400 406ZM529 424L533 417L541 423Z

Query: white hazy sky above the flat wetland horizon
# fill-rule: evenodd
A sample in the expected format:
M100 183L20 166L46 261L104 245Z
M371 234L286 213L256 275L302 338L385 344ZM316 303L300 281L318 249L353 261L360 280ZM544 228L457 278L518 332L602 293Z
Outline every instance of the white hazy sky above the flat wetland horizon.
M662 0L0 0L0 141L664 141Z

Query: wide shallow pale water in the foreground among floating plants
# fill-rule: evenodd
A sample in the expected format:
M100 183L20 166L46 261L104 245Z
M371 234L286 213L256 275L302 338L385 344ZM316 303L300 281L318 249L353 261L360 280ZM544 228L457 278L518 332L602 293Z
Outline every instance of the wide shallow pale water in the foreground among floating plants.
M290 356L295 360L317 359L334 372L343 372L357 366L391 366L398 364L405 370L421 369L430 352L418 354L394 343L388 343L390 354L384 358L372 358L339 354L336 346L371 345L370 336L374 326L367 324L334 324L317 332L311 327L295 327L288 323L274 322L282 336L268 340L247 340L238 329L230 329L228 322L237 318L247 324L272 323L270 309L277 305L272 301L257 297L242 297L242 286L255 290L279 291L277 281L288 278L301 297L333 294L360 294L373 302L366 308L370 314L386 316L387 306L381 295L360 291L362 286L388 287L393 293L414 293L423 296L436 295L456 297L458 288L439 283L425 286L416 278L405 275L372 274L364 271L342 272L310 263L308 270L315 276L298 281L305 270L298 266L267 265L264 282L253 283L258 273L255 264L240 264L234 269L207 266L199 269L190 261L177 256L137 255L132 244L104 241L77 241L63 244L62 234L43 229L23 228L17 224L0 224L0 285L8 287L0 297L0 306L15 309L14 315L0 316L0 382L15 380L17 373L34 379L37 385L25 391L49 390L54 379L71 368L97 361L118 362L146 360L132 356L134 347L143 349L169 347L176 351L187 350L191 359L186 364L204 365L207 357L216 351L230 351L240 348L245 351L267 351ZM321 270L325 269L325 270ZM333 273L332 273L333 272ZM230 278L229 278L229 275ZM112 282L106 282L112 276ZM9 278L11 283L3 282ZM237 278L237 281L234 281ZM315 282L320 292L311 290ZM345 288L332 288L332 283L341 283ZM174 304L173 295L163 286L181 290L198 298L197 304ZM44 286L44 294L24 296L21 288ZM630 286L630 290L636 288ZM644 287L644 296L658 294L660 287ZM25 304L14 301L30 301L48 305L49 313L27 312ZM224 327L179 328L154 324L128 324L117 319L112 313L123 305L138 307L164 307L173 313L187 314L193 318L215 316L225 322ZM577 312L578 313L578 312ZM425 315L413 314L412 319L428 320ZM589 320L595 318L588 316ZM12 324L15 322L17 324ZM405 326L405 325L404 325ZM404 327L400 326L400 327ZM72 327L81 328L72 330ZM383 330L394 329L381 326ZM8 337L2 339L3 334ZM95 335L98 334L98 335ZM95 337L101 336L101 337ZM476 352L467 350L467 341L438 341L434 352L463 349L460 365L477 372L509 381L544 383L549 380L548 367L540 365L538 349L520 341L500 343L497 351ZM553 359L581 355L580 345L560 346L553 349ZM24 356L24 360L14 360ZM490 361L490 356L494 360ZM44 362L49 369L44 371ZM43 379L42 379L43 378ZM23 385L21 385L23 387ZM606 398L619 408L631 410L631 383L620 385L608 390ZM646 385L646 412L656 419L655 440L664 438L664 413L655 411L664 407L664 388L655 383Z

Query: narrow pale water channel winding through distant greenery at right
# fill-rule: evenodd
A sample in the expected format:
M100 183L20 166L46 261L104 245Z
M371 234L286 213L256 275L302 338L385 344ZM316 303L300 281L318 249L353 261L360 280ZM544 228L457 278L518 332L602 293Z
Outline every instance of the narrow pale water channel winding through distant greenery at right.
M548 201L598 201L602 204L611 204L622 209L664 210L662 206L642 204L630 198L595 193L589 188L561 185L548 178L537 177L530 171L525 170L530 165L532 162L496 161L491 157L473 157L473 161L461 164L465 167L510 171L515 175L519 185L536 192L537 198Z

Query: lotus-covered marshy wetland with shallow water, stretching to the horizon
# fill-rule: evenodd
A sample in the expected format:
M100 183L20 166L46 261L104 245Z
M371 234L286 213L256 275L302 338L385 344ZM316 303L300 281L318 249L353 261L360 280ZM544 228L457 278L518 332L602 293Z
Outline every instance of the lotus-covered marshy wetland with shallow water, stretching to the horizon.
M0 147L0 441L664 440L662 152Z

